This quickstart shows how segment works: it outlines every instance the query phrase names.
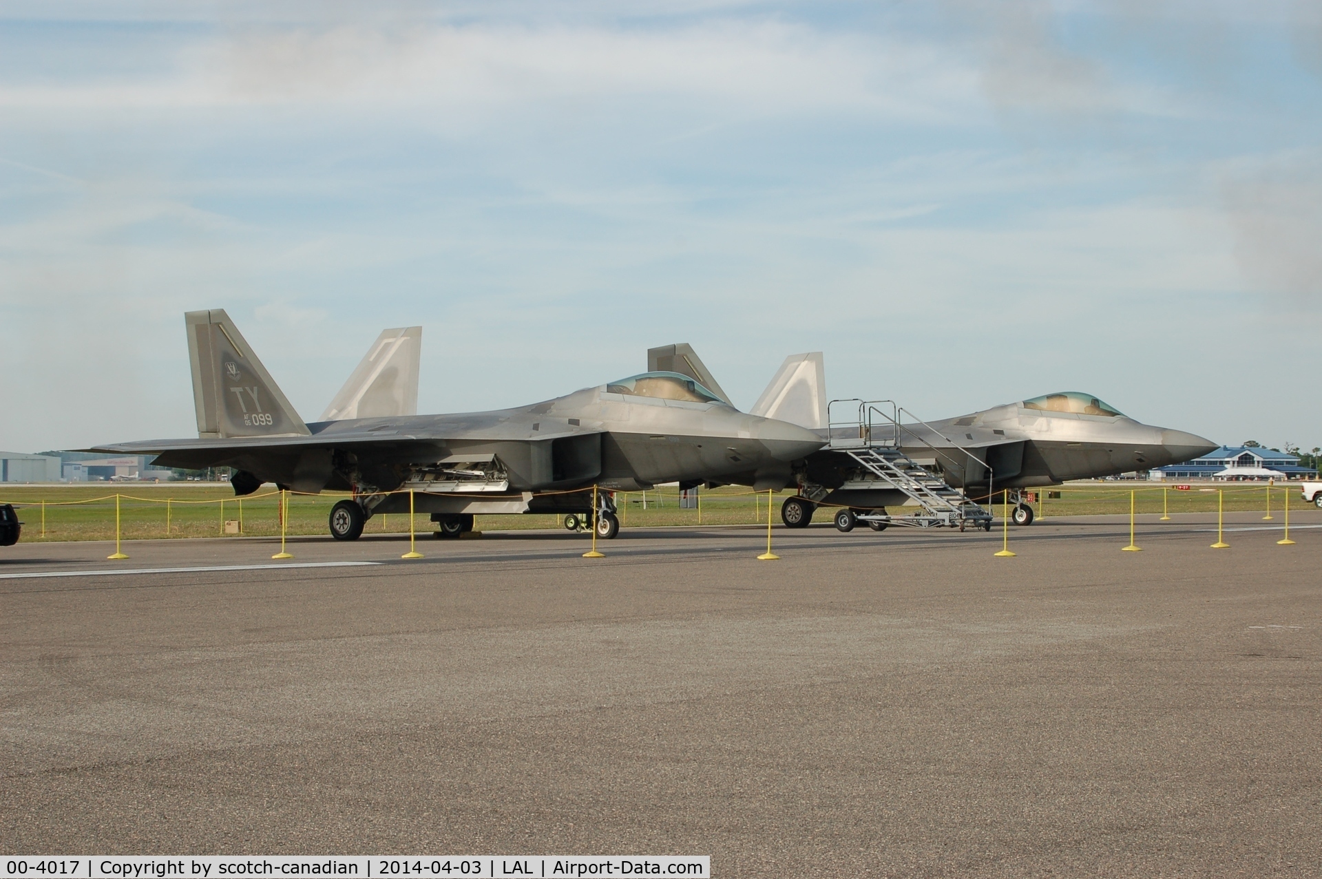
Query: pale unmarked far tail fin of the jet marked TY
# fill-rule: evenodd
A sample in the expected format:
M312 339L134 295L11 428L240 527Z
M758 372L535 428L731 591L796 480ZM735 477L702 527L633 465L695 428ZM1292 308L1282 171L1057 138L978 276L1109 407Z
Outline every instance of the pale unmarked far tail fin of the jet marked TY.
M319 420L418 414L422 326L385 329Z

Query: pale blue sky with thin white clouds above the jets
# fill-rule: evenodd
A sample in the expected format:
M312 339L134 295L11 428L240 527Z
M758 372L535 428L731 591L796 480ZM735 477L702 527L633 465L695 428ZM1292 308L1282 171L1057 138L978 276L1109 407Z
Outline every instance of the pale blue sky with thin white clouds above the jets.
M0 449L196 435L182 312L316 418L690 342L948 418L1322 445L1322 4L0 4Z

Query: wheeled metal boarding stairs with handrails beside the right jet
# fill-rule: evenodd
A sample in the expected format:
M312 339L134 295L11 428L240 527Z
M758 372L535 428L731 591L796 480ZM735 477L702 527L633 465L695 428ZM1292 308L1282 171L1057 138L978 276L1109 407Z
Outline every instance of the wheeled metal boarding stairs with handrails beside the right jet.
M907 527L958 527L968 526L990 530L992 513L982 509L960 489L948 484L939 475L927 469L900 447L906 432L900 423L899 408L892 401L832 401L828 412L837 403L858 403L858 418L849 422L830 422L829 448L850 456L859 464L862 478L850 480L843 489L895 489L912 500L921 510L910 516L890 516L887 513L858 513L859 522L876 525L900 525ZM891 414L883 407L888 406ZM927 443L910 431L916 441ZM958 448L958 447L957 447ZM932 447L936 451L935 447ZM969 457L976 456L960 449ZM981 463L981 461L980 461Z

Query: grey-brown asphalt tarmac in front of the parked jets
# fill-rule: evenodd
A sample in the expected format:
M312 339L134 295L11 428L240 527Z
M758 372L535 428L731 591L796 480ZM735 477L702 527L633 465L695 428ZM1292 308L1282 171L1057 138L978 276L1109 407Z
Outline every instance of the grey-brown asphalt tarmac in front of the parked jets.
M20 543L0 849L1322 875L1322 512L1227 522Z

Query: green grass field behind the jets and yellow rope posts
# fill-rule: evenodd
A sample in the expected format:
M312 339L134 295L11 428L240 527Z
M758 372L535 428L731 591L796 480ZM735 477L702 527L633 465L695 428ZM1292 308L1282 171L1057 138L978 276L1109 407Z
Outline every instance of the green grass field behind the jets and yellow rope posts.
M1042 498L1034 505L1038 516L1096 516L1128 513L1130 492L1138 513L1161 513L1167 509L1179 513L1215 513L1218 492L1223 492L1227 512L1265 510L1268 486L1263 484L1223 484L1208 486L1192 484L1182 492L1153 482L1071 482L1048 489L1059 492L1059 498ZM29 541L104 541L115 537L115 506L119 494L120 534L126 541L227 537L226 521L241 522L242 534L279 535L280 521L278 494L263 489L246 498L235 498L225 482L98 482L85 485L5 485L0 486L0 504L20 508L24 522L22 539ZM779 522L780 500L773 498L772 516ZM290 496L288 534L325 534L330 508L345 494ZM1273 514L1284 509L1286 498L1292 509L1307 506L1300 498L1297 485L1272 488ZM702 492L701 523L752 525L767 522L767 493L754 494L750 489L726 486ZM680 509L678 489L669 486L645 493L629 492L616 496L620 521L624 527L697 525L699 512ZM1043 509L1044 504L1044 509ZM997 513L999 513L999 505ZM892 513L903 513L892 509ZM825 519L826 510L818 513ZM477 530L557 527L555 516L479 516ZM416 517L420 534L435 530L427 516ZM408 517L399 514L377 516L368 522L366 533L407 533Z

